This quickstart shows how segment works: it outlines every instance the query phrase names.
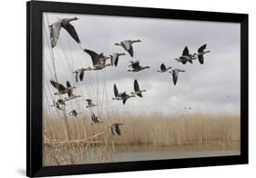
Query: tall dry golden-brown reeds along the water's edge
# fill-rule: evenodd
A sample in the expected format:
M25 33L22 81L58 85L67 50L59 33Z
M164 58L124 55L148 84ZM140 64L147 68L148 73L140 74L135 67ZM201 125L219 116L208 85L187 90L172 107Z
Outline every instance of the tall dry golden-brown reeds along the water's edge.
M111 159L115 145L180 146L214 142L225 149L232 142L240 142L240 117L234 114L110 115L104 124L91 124L85 115L68 117L67 123L63 117L45 115L45 165L87 163L88 157L96 162ZM113 123L123 124L120 136L111 134L108 125ZM69 140L65 133L69 134Z

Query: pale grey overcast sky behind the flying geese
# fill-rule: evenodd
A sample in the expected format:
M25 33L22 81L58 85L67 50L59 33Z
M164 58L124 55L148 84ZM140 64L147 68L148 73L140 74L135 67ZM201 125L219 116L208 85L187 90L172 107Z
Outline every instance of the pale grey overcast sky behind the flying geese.
M216 23L185 20L168 20L138 17L120 17L103 15L44 15L44 81L46 96L51 101L50 93L56 90L49 84L53 75L53 63L49 50L48 24L57 18L77 16L71 22L82 42L81 46L97 53L111 54L124 50L115 43L125 39L140 39L133 44L134 57L128 54L120 56L118 67L107 67L101 71L86 72L83 82L75 82L72 71L77 68L92 66L89 55L62 29L54 56L58 81L66 85L71 81L77 85L75 94L83 98L71 102L67 107L86 112L78 104L86 104L91 98L95 103L103 104L103 111L111 110L134 113L176 112L231 112L240 113L240 24ZM210 54L205 54L205 63L180 64L174 60L179 57L186 45L190 53L197 52L201 44L207 44ZM140 64L150 68L138 73L127 72L130 60L139 60ZM171 74L157 73L160 64L186 70L179 73L178 83L174 86ZM113 101L113 84L119 92L133 91L133 81L138 79L140 89L146 89L143 98L131 98L125 105ZM97 88L99 97L97 98ZM49 93L50 92L50 93ZM54 96L56 98L56 96ZM102 101L102 102L100 102ZM108 107L107 107L108 105ZM185 107L191 107L188 111Z

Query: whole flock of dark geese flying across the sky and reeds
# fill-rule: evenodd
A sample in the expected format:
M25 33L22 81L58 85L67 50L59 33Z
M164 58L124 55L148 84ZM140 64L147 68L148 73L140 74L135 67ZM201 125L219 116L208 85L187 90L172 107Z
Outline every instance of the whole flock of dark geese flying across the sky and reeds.
M52 25L49 25L50 41L51 41L52 48L56 46L60 31L62 28L67 31L67 33L77 42L77 44L81 44L75 27L70 24L70 22L76 21L76 20L78 20L77 17L62 18L62 19L58 19ZM125 50L130 55L130 57L133 57L134 56L133 44L140 43L140 42L141 41L139 39L124 40L119 43L116 43L115 45L122 47L123 50ZM175 60L182 64L187 64L187 63L193 64L193 61L198 59L200 64L204 64L204 54L210 53L210 51L205 51L206 46L207 44L201 45L198 49L198 52L194 54L189 54L189 48L188 46L185 46L183 53L179 56L179 58L176 58ZM78 80L83 81L84 74L87 71L92 71L92 70L99 71L108 66L117 67L119 57L122 55L126 55L125 53L113 53L113 54L104 55L103 53L97 53L89 49L83 49L83 51L90 56L92 60L92 66L87 66L86 68L82 67L74 71L73 74L75 74L76 82L78 82ZM108 60L110 61L109 63L107 63ZM127 71L137 73L139 71L142 71L148 68L150 67L141 66L138 60L133 60L133 61L130 61ZM173 68L171 66L166 66L165 64L160 64L160 68L157 72L172 74L173 84L176 85L179 73L185 72L185 70L182 70L179 68ZM63 106L66 104L67 101L81 97L80 95L73 94L73 90L76 89L76 86L72 86L68 81L66 86L54 80L51 80L50 84L52 84L56 88L57 93L55 94L58 94L58 95L67 94L68 96L68 97L65 97L64 99L61 98L53 102L52 106L55 106L59 110L63 109ZM113 97L112 99L117 101L120 100L122 101L123 104L126 104L129 98L136 97L136 95L138 97L142 97L142 93L146 92L146 90L140 90L138 80L134 80L134 91L131 92L130 94L127 94L126 91L119 93L117 84L113 84L113 89L114 89L115 97ZM86 101L87 101L87 105L86 105L87 108L97 106L97 104L93 103L92 99L87 99ZM77 117L78 113L77 113L77 110L72 110L68 114ZM92 120L92 124L104 123L103 121L99 121L98 116L94 113L91 114L91 120ZM119 123L109 124L108 126L110 127L111 134L120 135L121 134L120 127L119 127L120 125L122 124L119 124Z

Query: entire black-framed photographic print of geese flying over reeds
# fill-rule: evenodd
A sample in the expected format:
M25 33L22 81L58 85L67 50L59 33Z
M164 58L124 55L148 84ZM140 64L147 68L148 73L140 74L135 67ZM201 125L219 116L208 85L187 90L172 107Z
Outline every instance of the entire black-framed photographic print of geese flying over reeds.
M248 163L248 15L26 5L27 176Z

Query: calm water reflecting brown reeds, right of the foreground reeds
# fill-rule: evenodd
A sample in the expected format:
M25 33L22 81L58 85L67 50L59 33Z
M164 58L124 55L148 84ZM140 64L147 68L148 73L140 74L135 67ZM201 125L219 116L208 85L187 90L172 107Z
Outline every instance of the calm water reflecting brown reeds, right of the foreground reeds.
M212 157L240 154L240 142L230 143L226 146L221 143L180 146L118 145L115 146L115 153L113 154L112 158L104 161L104 163ZM91 161L92 160L90 160L89 162L93 163L93 161Z

